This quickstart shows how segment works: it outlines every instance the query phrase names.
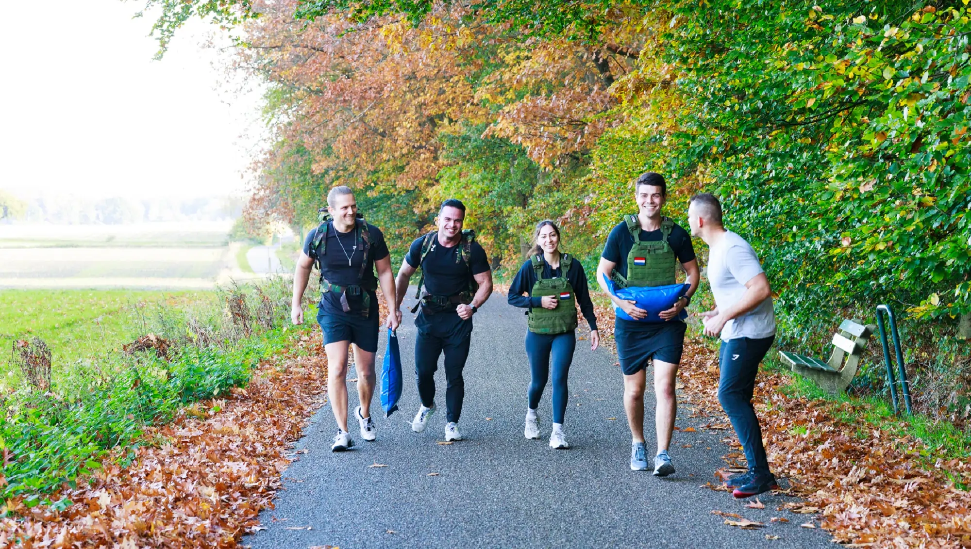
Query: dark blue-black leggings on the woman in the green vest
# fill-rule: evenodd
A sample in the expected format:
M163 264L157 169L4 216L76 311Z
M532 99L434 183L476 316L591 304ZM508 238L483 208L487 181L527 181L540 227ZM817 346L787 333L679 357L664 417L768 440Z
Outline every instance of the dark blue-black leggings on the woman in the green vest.
M540 405L543 389L546 388L550 377L550 358L552 355L552 422L563 423L566 415L566 402L570 390L566 386L566 377L570 373L573 362L573 351L577 348L577 336L574 331L566 334L533 334L526 332L526 356L529 357L529 408L536 409Z

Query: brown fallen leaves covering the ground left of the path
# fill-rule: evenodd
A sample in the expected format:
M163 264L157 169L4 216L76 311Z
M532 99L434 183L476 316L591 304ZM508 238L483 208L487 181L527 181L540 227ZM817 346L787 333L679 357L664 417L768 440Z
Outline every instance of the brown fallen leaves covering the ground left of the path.
M315 331L290 356L261 364L246 388L151 429L127 467L113 455L77 489L49 496L74 504L6 501L0 547L234 547L259 510L272 507L282 472L298 459L288 448L325 387Z

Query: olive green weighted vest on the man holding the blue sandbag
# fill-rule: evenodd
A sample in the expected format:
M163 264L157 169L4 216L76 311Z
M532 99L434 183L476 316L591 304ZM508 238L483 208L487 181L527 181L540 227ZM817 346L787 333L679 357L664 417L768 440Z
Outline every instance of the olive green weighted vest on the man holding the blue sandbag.
M668 237L674 229L674 221L670 217L661 217L661 240L651 242L641 240L641 222L637 219L637 215L624 215L623 221L634 239L634 245L627 254L626 278L617 270L611 274L618 286L626 288L674 284L678 258L675 257L674 250L668 243Z

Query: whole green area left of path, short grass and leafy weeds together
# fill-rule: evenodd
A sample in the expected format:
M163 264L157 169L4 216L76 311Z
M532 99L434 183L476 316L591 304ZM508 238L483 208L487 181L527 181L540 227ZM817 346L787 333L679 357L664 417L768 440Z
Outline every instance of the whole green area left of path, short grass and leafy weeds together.
M4 292L4 326L29 327L55 357L77 360L52 361L48 391L20 381L0 392L0 500L45 503L45 494L101 467L112 448L142 443L147 426L248 383L260 361L313 330L288 326L290 291L270 278L216 292ZM149 332L172 344L168 361L151 350L121 352L120 342Z

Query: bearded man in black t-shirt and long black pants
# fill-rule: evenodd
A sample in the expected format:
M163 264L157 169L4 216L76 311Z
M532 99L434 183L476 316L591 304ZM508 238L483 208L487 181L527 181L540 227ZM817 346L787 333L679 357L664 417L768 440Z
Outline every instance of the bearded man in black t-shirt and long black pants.
M465 398L462 370L469 356L472 315L492 293L492 271L485 250L475 242L474 233L462 231L464 219L465 206L449 199L438 212L438 231L412 242L395 279L398 301L391 312L400 322L401 300L409 280L420 268L424 283L419 282L423 286L421 311L415 319L415 373L421 405L412 430L424 431L435 411L435 371L438 357L445 353L446 441L462 439L456 424Z

